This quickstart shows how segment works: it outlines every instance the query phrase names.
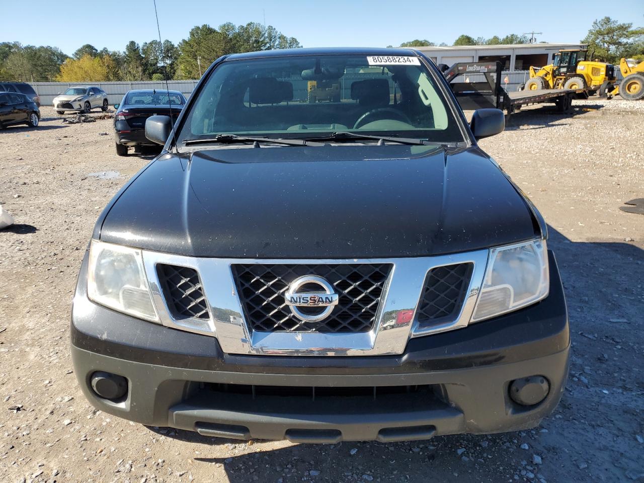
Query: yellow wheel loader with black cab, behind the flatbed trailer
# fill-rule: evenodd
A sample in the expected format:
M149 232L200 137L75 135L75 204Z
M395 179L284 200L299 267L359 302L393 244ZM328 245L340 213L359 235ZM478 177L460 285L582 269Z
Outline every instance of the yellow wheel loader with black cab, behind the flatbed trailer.
M524 90L584 89L589 95L600 88L608 90L615 83L612 64L585 60L587 50L560 50L554 61L544 67L530 66L530 79Z

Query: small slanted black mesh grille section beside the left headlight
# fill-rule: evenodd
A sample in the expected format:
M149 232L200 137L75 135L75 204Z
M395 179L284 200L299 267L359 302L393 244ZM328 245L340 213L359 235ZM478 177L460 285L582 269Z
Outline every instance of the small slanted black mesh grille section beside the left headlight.
M195 269L178 265L157 265L159 281L167 306L175 318L210 318L199 274Z

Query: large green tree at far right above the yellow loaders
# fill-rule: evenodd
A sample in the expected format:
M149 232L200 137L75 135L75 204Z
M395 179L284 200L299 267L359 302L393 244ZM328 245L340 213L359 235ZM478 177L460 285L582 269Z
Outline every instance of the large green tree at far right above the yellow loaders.
M592 23L582 42L588 44L593 59L617 64L621 57L644 54L644 28L603 17Z

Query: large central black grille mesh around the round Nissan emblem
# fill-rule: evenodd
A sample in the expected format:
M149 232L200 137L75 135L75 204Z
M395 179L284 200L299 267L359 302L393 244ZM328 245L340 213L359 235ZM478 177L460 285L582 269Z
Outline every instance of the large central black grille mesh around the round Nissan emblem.
M249 327L259 332L368 332L391 268L390 263L232 265ZM327 279L339 296L322 321L301 321L285 303L290 283L310 274Z

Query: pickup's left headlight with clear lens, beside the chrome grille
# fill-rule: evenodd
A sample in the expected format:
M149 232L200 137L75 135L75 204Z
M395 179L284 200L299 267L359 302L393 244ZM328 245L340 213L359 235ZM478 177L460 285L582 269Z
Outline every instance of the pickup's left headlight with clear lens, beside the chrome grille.
M138 249L92 240L87 292L100 305L158 321Z

